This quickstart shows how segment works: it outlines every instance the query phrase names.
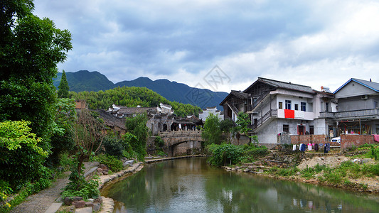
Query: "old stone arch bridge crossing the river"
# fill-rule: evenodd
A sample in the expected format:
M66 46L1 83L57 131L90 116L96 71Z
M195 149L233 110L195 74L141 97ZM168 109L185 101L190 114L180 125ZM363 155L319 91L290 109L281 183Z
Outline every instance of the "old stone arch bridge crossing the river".
M193 153L193 149L200 149L201 131L165 131L159 132L164 141L164 148L170 156Z

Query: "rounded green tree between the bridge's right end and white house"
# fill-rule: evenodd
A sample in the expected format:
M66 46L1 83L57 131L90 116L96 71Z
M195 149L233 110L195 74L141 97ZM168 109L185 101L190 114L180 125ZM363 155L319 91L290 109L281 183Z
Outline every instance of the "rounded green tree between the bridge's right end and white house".
M213 143L221 143L220 120L218 119L218 116L209 114L209 116L205 120L204 129L201 133L201 137L205 140L205 146L208 146Z

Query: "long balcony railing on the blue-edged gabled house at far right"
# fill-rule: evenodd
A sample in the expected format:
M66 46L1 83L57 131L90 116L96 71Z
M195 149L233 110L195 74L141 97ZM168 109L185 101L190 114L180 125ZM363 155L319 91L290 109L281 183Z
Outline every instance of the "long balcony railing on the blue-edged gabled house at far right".
M379 109L361 109L352 111L320 112L320 118L324 119L344 119L344 118L361 118L366 116L379 116Z

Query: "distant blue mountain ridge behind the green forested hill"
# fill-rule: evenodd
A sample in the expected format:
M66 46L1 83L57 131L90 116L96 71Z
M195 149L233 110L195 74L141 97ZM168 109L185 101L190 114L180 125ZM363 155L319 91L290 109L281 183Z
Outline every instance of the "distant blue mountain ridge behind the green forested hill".
M58 77L54 80L55 87L58 88L62 73L58 73ZM180 102L183 104L192 104L201 108L218 107L220 102L228 95L227 92L213 92L209 89L198 89L189 87L186 84L171 82L169 80L151 80L148 77L139 77L131 81L122 81L113 84L110 80L100 72L89 72L80 70L78 72L66 72L68 86L70 91L94 91L112 89L114 87L146 87L154 92L161 94L171 102Z

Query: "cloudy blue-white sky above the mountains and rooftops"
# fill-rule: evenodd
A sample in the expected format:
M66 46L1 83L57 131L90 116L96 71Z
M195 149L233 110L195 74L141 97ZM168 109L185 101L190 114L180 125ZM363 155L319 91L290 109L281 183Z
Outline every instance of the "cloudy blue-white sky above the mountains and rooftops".
M379 1L35 0L73 36L59 71L166 78L213 91L257 77L335 91L379 82ZM218 82L218 83L215 83Z

